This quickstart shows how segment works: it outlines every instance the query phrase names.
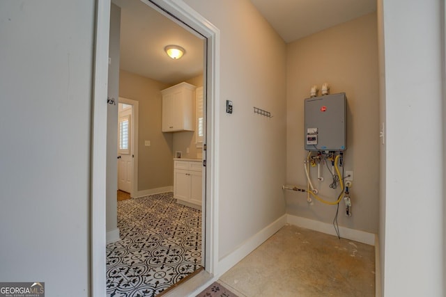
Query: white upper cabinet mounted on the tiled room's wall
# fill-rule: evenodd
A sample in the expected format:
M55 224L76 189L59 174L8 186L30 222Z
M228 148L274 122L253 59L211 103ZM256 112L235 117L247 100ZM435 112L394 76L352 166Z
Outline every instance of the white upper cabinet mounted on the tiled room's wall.
M190 83L178 83L161 91L161 131L194 131L194 90Z

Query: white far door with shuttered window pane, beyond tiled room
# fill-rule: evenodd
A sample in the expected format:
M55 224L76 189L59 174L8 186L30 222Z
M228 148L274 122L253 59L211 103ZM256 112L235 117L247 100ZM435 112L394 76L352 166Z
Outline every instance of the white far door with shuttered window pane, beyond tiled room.
M119 104L118 190L132 191L132 105Z

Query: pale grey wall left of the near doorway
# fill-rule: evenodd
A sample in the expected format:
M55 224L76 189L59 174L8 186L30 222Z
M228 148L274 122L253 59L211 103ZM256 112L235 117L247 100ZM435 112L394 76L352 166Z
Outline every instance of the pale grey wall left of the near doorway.
M105 170L91 167L95 6L0 1L0 280L40 280L46 296L93 295L92 188L105 194L105 179L91 184Z

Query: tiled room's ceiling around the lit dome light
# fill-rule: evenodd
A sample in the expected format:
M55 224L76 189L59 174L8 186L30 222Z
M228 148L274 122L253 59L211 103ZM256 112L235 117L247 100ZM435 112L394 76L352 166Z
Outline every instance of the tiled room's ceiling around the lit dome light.
M113 0L121 7L122 70L174 84L203 73L203 40L140 0ZM167 56L164 47L179 45L182 58Z

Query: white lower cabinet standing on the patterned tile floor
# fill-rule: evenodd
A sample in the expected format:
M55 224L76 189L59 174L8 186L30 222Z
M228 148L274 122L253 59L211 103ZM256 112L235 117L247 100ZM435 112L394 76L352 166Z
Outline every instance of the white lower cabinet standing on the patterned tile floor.
M201 160L174 161L174 198L178 203L201 209Z

